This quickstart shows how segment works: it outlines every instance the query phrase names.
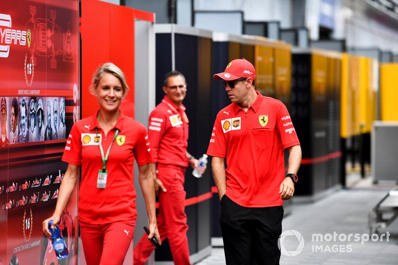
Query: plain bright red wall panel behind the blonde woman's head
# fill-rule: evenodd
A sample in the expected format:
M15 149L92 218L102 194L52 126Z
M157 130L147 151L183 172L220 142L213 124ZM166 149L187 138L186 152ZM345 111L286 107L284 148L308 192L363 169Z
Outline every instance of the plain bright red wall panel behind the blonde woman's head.
M94 71L106 62L123 71L130 90L120 108L125 115L134 117L135 11L98 0L82 1L82 118L99 109L89 87Z

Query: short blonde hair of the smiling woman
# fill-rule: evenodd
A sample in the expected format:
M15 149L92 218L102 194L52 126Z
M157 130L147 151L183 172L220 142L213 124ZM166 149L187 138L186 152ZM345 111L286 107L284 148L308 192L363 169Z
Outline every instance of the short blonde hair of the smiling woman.
M96 88L98 87L98 84L100 83L101 78L105 74L112 74L120 81L120 84L121 84L121 86L123 88L123 93L124 93L124 96L125 96L127 94L127 92L128 92L128 85L126 83L126 78L124 77L123 71L121 71L120 68L118 68L113 63L105 63L105 64L101 65L96 70L96 72L94 72L93 78L92 78L92 81L91 81L91 85L90 85L90 88L89 88L90 92L93 95L96 94Z

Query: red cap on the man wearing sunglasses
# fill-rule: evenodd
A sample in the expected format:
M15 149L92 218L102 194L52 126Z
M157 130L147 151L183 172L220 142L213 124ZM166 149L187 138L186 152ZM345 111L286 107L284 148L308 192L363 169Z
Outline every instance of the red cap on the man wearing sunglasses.
M224 72L213 76L213 78L217 80L236 80L242 77L251 77L253 80L256 79L256 70L254 66L245 58L231 61Z

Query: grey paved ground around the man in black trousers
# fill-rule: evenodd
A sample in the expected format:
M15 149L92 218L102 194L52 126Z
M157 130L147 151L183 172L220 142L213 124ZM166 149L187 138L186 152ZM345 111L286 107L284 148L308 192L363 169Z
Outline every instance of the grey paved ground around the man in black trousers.
M394 185L375 185L369 178L354 177L349 186L312 203L294 204L282 224L282 265L398 265L398 220L379 230L374 241L366 241L368 214ZM316 241L314 234L320 234L323 241ZM212 248L212 254L197 263L221 264L225 264L222 248Z

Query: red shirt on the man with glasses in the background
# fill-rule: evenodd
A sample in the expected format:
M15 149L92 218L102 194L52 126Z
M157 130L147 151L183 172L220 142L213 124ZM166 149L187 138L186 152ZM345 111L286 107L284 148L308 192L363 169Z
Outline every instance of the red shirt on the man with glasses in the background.
M188 167L188 117L167 96L149 115L148 135L155 163Z

